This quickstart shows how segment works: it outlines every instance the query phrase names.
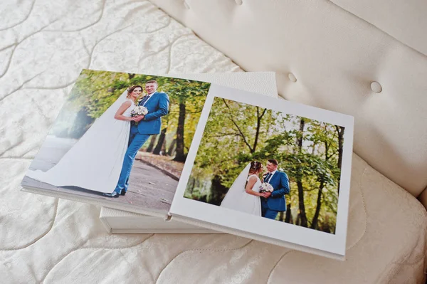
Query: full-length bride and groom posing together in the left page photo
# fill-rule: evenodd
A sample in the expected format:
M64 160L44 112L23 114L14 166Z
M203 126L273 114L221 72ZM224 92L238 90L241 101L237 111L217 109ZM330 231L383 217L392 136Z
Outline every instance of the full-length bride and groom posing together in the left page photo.
M169 112L169 96L157 92L158 83L133 85L99 117L85 134L46 172L30 170L27 176L54 186L78 186L107 197L125 195L138 150L151 135L158 135L162 116ZM145 115L132 115L139 105ZM56 145L54 145L56 146Z

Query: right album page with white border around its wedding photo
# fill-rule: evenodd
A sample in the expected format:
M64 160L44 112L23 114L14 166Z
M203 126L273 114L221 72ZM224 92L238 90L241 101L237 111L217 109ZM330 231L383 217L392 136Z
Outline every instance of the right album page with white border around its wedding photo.
M348 115L211 85L171 213L344 256L352 140Z

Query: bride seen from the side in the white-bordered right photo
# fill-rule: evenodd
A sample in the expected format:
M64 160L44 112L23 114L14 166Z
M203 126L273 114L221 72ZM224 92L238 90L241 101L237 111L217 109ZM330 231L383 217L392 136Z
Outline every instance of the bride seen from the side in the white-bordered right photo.
M261 216L260 196L263 194L259 192L261 180L258 175L262 170L263 164L260 162L248 164L228 189L220 206Z

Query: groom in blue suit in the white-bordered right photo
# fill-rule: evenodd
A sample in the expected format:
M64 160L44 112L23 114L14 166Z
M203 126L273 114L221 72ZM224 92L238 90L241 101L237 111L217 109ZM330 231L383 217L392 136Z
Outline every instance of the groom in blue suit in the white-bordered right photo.
M289 179L284 172L278 171L278 161L269 159L267 162L268 174L264 182L273 186L273 192L265 193L261 197L261 214L263 217L275 220L280 211L286 211L285 194L289 194Z

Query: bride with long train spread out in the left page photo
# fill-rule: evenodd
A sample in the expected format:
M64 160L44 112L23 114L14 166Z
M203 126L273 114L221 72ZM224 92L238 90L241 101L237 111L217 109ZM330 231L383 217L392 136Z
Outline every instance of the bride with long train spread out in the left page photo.
M58 164L46 172L29 170L31 179L54 186L78 186L111 193L122 170L130 135L130 112L142 87L133 85L99 117Z

